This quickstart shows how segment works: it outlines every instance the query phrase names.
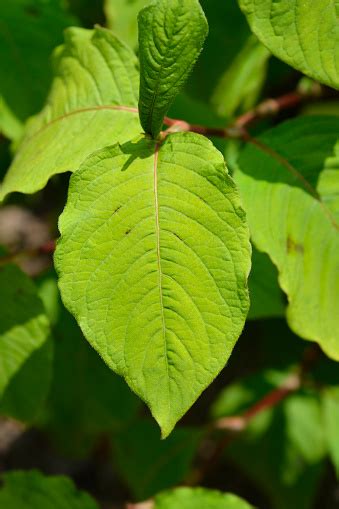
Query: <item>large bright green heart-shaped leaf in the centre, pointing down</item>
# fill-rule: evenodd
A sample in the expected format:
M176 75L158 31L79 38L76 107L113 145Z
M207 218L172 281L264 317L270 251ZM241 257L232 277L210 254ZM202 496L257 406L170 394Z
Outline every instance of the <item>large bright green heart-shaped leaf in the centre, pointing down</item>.
M224 159L192 133L104 149L72 176L59 228L65 305L166 437L248 311L248 230Z

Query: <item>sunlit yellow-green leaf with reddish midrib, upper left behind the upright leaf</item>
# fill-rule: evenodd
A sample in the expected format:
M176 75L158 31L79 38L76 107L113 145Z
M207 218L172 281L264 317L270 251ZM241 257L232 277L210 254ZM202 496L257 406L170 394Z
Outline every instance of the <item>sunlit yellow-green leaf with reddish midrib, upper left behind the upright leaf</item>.
M57 173L75 171L88 155L140 133L138 64L108 30L71 28L54 54L55 79L42 112L26 128L0 199L34 193Z

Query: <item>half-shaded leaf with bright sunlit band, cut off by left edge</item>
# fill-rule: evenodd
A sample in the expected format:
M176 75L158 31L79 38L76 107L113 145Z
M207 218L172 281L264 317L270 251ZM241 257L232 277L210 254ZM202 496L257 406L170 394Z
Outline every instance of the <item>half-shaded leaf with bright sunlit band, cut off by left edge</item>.
M0 266L0 301L0 411L31 420L49 389L48 318L34 284L14 265Z

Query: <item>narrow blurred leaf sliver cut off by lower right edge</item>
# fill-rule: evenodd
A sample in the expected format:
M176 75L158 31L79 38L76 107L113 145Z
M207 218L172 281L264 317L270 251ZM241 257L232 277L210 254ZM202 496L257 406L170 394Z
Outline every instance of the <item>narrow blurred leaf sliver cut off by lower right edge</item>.
M339 477L339 387L327 387L322 394L325 439Z

